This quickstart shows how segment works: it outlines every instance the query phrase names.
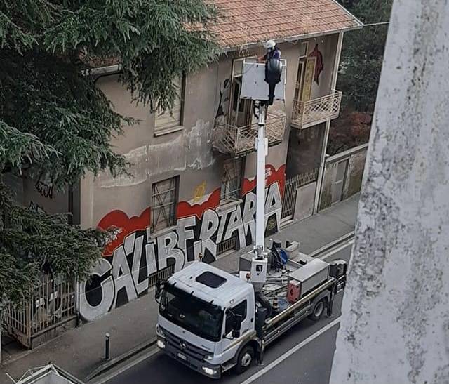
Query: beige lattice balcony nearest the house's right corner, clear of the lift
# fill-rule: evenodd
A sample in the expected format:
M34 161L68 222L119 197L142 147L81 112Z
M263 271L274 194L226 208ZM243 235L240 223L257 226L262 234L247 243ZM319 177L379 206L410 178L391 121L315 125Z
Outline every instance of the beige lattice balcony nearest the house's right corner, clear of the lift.
M333 91L330 95L305 102L293 100L293 128L304 129L336 119L340 114L341 102L342 93L340 91Z

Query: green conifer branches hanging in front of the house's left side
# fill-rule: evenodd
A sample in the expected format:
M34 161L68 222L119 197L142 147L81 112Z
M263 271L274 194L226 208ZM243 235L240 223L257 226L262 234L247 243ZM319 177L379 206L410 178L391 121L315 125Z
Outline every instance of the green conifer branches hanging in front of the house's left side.
M175 80L215 58L203 0L0 0L0 169L44 174L56 189L86 172L126 172L110 140L131 119L116 114L90 69L121 64L121 82L166 110ZM14 204L0 179L0 300L25 295L39 271L85 277L101 234Z

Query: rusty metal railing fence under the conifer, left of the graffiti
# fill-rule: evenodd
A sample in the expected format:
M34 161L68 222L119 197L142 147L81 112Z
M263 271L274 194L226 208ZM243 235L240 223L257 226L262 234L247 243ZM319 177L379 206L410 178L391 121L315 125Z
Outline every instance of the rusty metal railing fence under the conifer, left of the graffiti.
M76 279L47 274L29 300L6 307L2 321L11 336L32 348L34 338L77 317Z

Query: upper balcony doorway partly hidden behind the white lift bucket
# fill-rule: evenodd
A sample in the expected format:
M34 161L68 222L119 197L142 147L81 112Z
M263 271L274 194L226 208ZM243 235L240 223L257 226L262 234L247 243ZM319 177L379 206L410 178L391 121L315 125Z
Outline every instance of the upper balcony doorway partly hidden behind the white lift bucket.
M237 127L248 126L253 119L253 100L240 98L243 60L245 58L234 60L232 70L232 88L230 93L232 99L229 104L231 109L229 124Z

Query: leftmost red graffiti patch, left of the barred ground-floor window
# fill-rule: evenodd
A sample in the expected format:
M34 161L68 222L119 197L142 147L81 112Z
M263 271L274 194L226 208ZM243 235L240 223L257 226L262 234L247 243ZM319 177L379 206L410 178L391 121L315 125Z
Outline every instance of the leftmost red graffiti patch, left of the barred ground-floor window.
M113 241L107 244L105 250L103 251L103 255L112 255L114 249L123 244L123 240L126 236L128 236L128 234L138 230L145 230L145 228L149 227L150 223L150 208L145 209L140 216L133 216L131 218L129 218L123 211L116 210L109 212L100 220L98 227L102 230L116 228L119 233L116 234L116 238Z

